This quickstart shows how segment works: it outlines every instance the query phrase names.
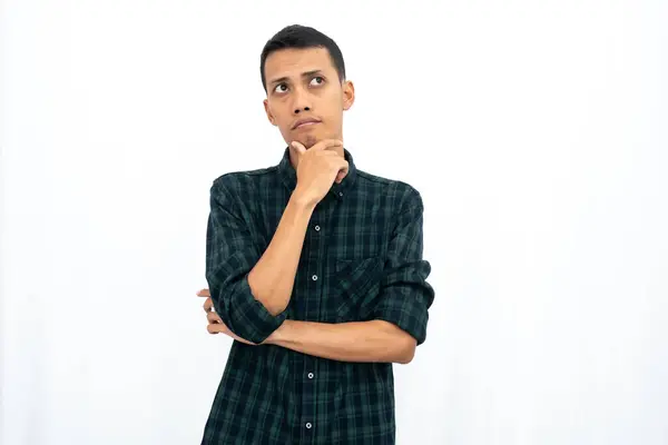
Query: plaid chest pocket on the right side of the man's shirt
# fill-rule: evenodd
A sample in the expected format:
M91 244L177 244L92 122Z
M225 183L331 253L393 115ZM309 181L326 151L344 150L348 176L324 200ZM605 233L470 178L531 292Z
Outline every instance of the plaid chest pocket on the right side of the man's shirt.
M332 323L364 322L377 300L382 276L381 257L336 259L326 318Z

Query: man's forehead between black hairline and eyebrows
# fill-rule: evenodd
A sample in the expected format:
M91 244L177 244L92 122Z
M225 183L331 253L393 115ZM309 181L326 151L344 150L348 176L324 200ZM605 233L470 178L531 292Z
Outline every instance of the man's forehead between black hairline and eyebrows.
M265 60L267 82L277 78L298 78L303 72L336 72L326 48L286 48L272 52Z

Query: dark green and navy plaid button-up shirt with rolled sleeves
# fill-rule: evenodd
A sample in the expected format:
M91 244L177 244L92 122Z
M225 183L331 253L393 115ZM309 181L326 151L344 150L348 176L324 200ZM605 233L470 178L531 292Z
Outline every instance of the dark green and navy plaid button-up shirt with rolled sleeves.
M383 319L422 344L434 298L422 259L420 194L358 170L316 206L288 307L273 316L247 274L267 248L296 172L277 166L217 178L210 189L206 279L216 312L238 336L262 343L284 319ZM279 346L234 342L202 444L394 444L390 363L344 363Z

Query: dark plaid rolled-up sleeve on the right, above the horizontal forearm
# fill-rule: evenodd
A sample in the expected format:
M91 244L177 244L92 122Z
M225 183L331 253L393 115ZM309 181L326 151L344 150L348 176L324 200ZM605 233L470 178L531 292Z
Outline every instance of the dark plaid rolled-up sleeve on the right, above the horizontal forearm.
M390 322L413 336L426 339L429 308L434 289L426 281L431 265L422 258L423 212L420 194L409 188L387 250L381 295L372 318Z

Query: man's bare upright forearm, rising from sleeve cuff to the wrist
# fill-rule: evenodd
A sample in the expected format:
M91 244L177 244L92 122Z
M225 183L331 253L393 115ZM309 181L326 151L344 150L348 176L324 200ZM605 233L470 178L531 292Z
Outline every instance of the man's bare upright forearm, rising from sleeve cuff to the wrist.
M267 249L248 275L254 297L277 315L288 303L314 205L289 199Z

